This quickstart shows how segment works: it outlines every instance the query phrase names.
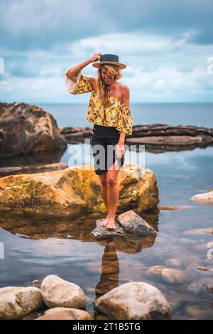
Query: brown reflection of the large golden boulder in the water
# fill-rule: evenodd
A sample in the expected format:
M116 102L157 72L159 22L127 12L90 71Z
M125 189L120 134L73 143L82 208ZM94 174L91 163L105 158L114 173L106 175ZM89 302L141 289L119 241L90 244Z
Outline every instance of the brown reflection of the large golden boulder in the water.
M158 230L158 214L144 213L145 219L155 230ZM90 233L96 227L96 220L102 219L98 213L88 214L77 218L67 219L62 217L45 217L29 215L18 210L13 212L0 212L0 227L4 230L28 239L46 239L56 237L58 239L77 239L81 242L97 242ZM152 247L155 235L151 237L136 237L126 234L117 237L114 241L119 252L136 254L141 249ZM99 241L99 244L103 242Z

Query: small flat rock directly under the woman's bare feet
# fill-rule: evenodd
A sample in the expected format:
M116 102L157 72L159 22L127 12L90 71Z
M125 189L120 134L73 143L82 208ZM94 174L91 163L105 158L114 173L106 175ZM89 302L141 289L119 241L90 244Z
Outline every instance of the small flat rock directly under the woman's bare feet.
M94 239L102 240L102 239L109 239L113 237L119 237L125 234L124 229L119 227L116 224L116 230L108 230L106 227L102 227L101 223L104 221L103 219L97 220L96 225L97 227L92 230L91 235Z

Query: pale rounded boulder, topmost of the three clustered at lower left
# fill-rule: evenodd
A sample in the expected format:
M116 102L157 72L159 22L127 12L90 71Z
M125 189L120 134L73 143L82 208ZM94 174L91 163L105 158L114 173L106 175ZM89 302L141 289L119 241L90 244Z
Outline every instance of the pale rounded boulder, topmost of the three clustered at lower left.
M49 308L84 308L85 306L86 297L80 286L58 276L46 276L40 289L43 300Z

